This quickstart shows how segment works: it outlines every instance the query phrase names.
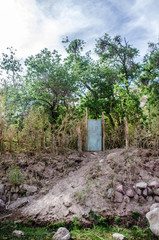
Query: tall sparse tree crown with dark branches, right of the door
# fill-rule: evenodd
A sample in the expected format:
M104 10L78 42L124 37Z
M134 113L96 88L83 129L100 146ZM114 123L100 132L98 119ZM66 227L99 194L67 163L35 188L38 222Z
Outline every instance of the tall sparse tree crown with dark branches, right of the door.
M112 39L108 34L97 40L95 51L102 61L115 68L119 74L124 74L126 88L129 91L128 86L138 74L139 64L135 63L135 57L139 51L125 38L123 40L121 36L115 36Z

